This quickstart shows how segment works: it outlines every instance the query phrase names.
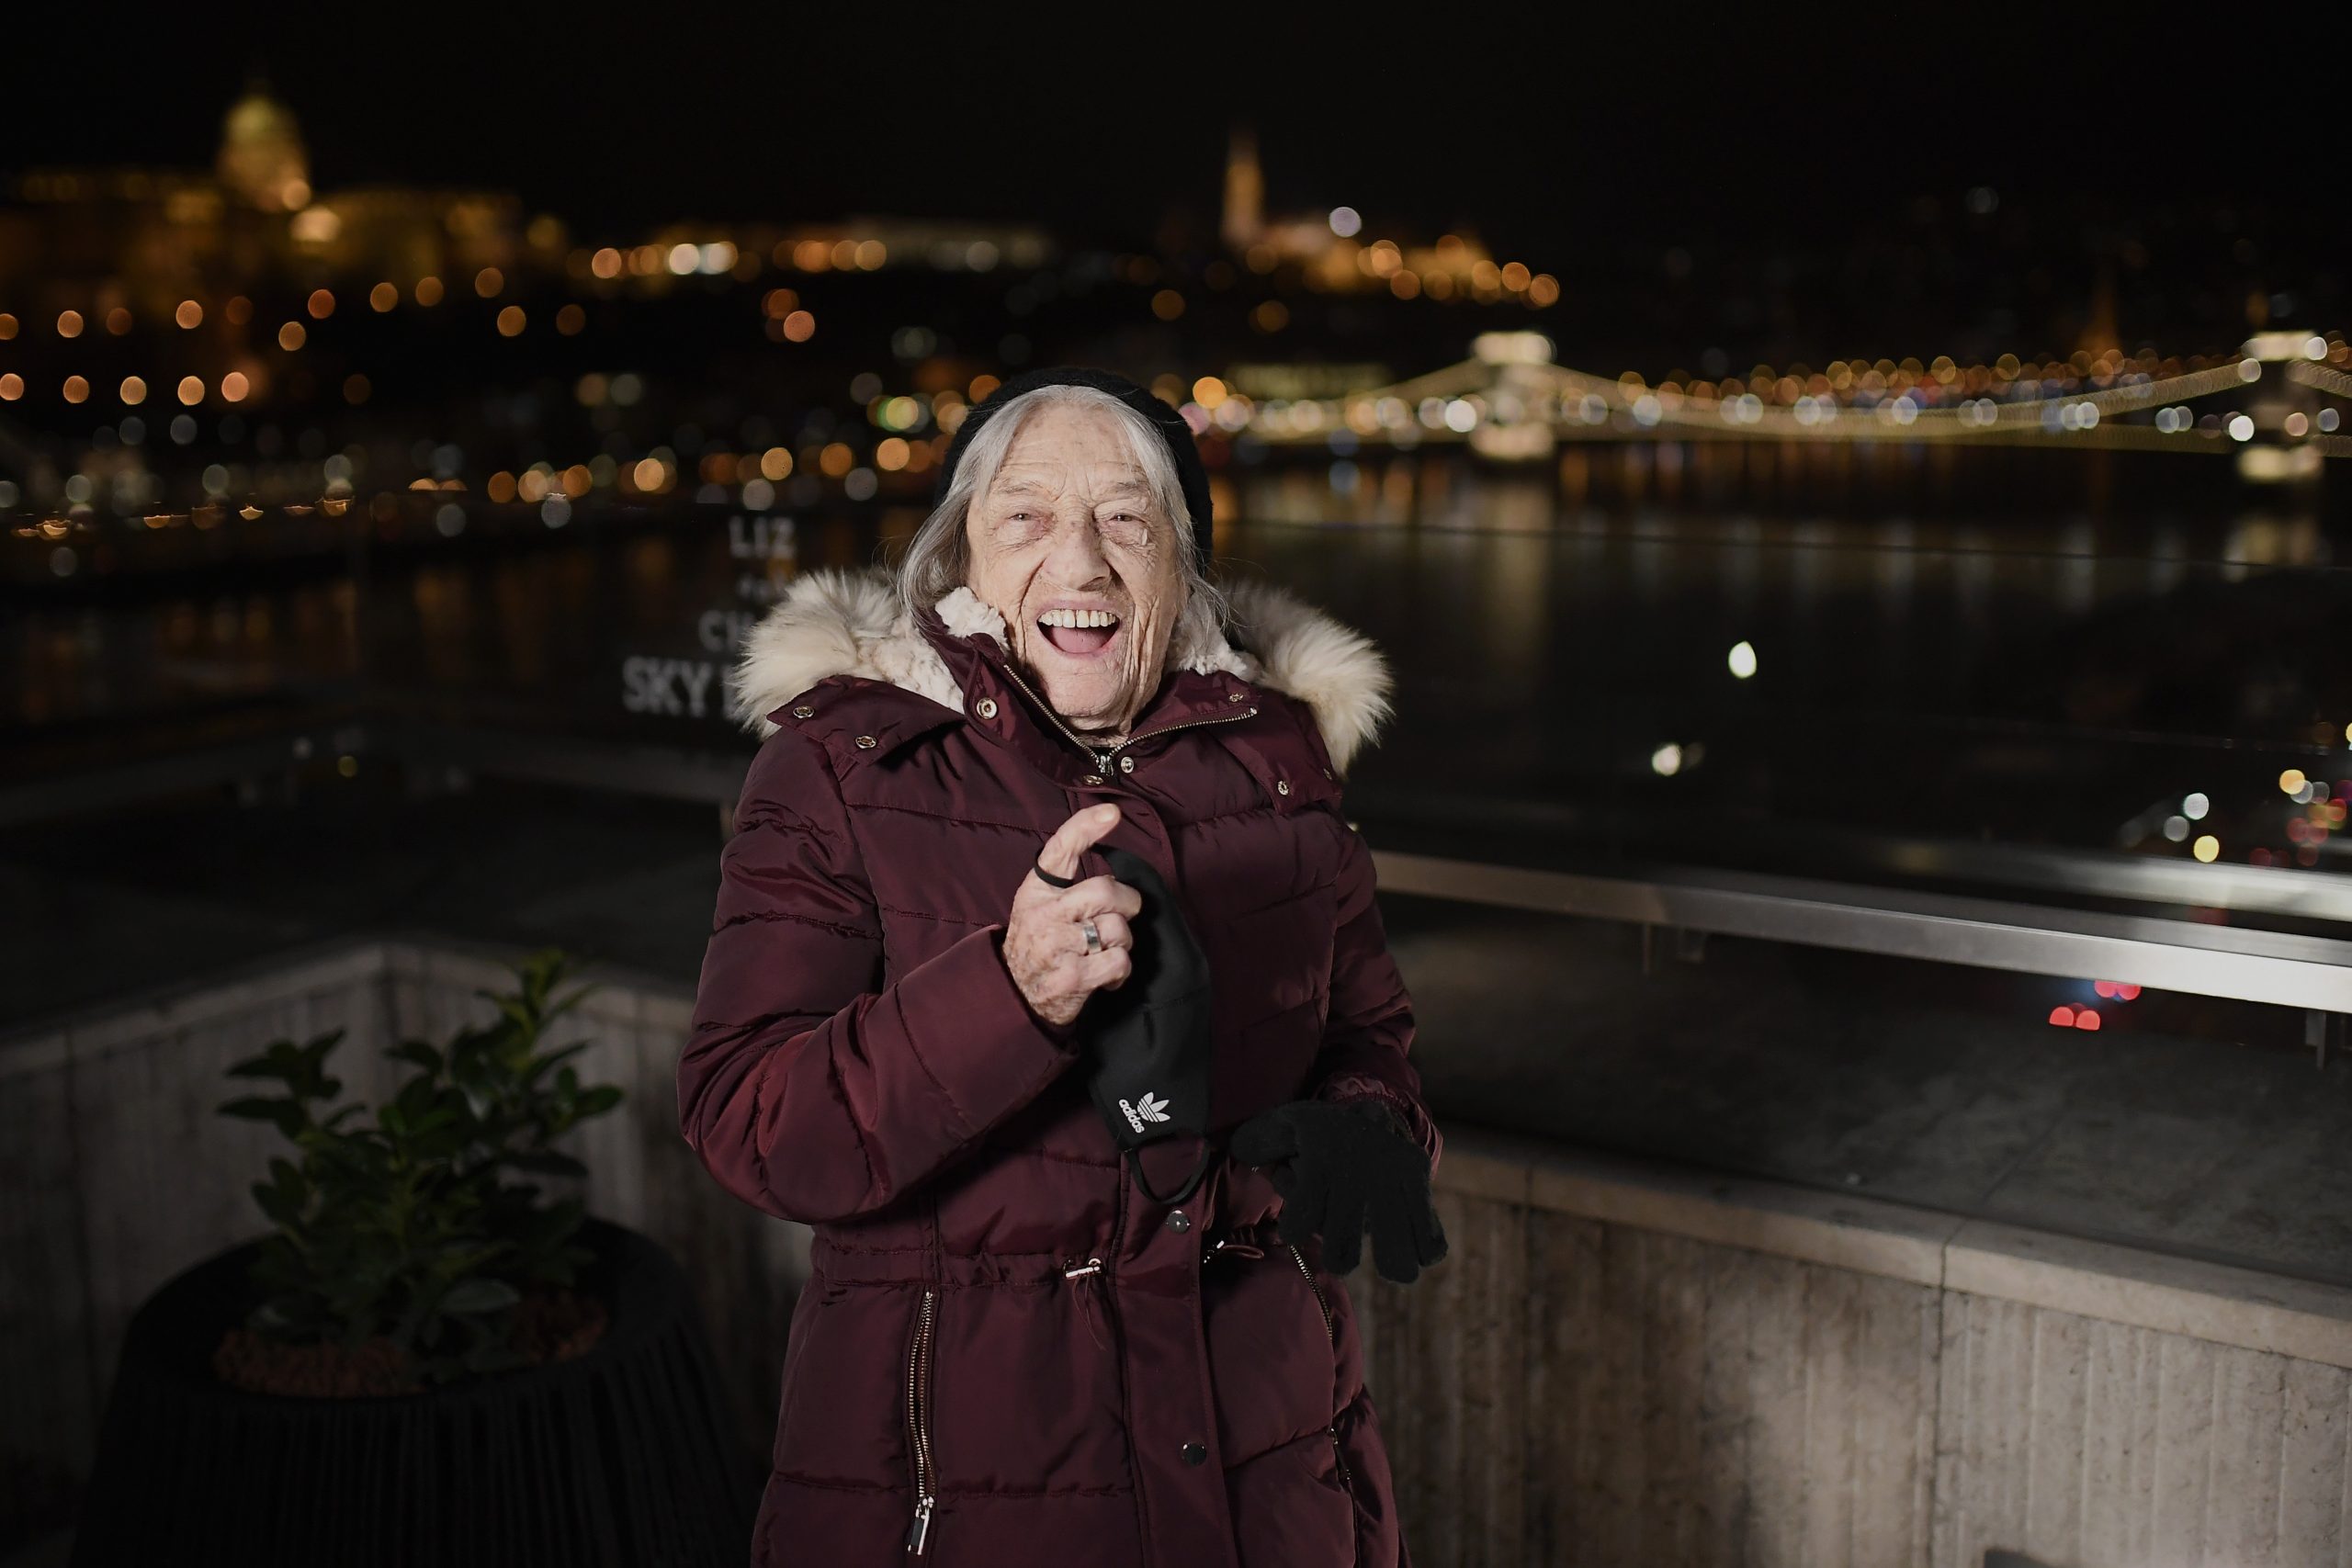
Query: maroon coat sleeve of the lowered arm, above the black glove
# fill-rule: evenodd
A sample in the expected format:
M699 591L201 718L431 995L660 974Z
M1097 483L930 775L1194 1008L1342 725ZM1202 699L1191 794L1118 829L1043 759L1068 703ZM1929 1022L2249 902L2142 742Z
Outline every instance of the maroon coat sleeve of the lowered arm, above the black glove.
M1421 1098L1414 1046L1414 999L1388 952L1388 931L1374 898L1371 846L1343 827L1338 875L1338 936L1331 947L1331 1011L1308 1093L1317 1100L1385 1103L1428 1152L1430 1171L1444 1152L1437 1119Z

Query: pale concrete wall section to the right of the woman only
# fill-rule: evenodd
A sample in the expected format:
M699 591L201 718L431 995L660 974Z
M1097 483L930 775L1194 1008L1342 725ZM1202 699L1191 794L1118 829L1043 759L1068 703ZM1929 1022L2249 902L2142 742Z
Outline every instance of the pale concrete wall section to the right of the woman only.
M2352 1291L1449 1133L1357 1276L1416 1568L2352 1563Z

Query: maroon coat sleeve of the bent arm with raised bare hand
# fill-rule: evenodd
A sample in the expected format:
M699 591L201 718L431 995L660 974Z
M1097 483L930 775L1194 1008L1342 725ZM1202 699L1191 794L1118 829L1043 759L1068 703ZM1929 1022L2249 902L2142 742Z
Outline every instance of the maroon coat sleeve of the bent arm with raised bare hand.
M882 917L823 748L779 729L720 856L680 1131L786 1220L891 1204L1077 1060L1030 1011L990 924L882 985Z

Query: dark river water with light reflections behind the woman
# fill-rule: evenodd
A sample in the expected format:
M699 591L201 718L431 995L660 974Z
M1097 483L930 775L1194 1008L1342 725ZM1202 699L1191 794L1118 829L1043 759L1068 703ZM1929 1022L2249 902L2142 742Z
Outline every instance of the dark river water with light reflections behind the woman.
M1348 456L1218 473L1218 548L1390 651L1374 788L1663 823L1700 858L1797 823L2117 846L2194 790L2223 858L2319 865L2333 832L2288 837L2274 778L2352 788L2352 686L2326 656L2352 623L2340 529L2317 498L2249 505L2159 470L1769 444L1522 470ZM866 564L920 517L590 512L247 592L33 602L0 642L7 726L334 698L741 745L722 672L776 585Z

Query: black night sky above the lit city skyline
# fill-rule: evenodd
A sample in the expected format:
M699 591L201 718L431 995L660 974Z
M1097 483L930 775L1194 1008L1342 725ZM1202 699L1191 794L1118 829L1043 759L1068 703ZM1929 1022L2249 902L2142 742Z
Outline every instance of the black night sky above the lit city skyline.
M1461 226L1538 268L1597 237L1820 247L1971 186L2084 221L2183 202L2305 240L2347 228L2321 200L2352 141L2345 40L2256 35L2256 12L1272 9L122 12L120 38L80 26L21 56L47 68L19 75L0 158L202 165L259 73L301 115L322 190L513 188L583 237L866 212L1209 237L1237 120L1272 212L1348 202L1402 237Z

